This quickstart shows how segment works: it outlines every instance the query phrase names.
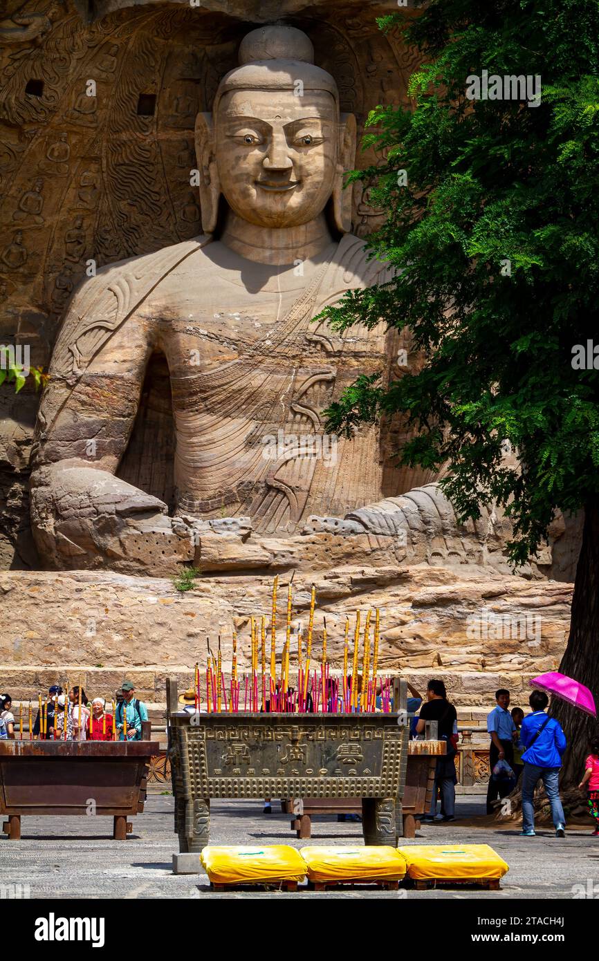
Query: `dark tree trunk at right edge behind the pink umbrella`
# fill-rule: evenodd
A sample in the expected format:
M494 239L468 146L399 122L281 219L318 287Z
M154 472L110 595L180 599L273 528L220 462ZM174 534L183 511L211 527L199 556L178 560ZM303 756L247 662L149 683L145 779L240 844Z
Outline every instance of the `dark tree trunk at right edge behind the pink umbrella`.
M599 703L599 498L593 498L585 505L570 633L560 671L585 684L595 703ZM560 722L568 741L563 755L563 792L580 783L585 774L588 742L599 731L595 718L558 698L553 698L549 713Z

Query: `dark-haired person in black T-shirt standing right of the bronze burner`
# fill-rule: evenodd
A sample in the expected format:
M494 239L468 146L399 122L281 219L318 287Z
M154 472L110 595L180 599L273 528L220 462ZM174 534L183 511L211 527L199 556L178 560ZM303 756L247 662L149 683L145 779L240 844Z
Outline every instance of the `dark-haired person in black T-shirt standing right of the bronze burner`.
M437 721L438 739L447 742L447 753L437 757L435 768L435 784L433 786L433 800L431 813L423 821L455 821L456 811L456 776L455 757L458 742L458 714L456 708L447 700L445 684L442 680L432 678L427 684L427 701L420 708L420 717L416 724L416 734L422 734L427 721ZM437 793L441 796L441 814L437 812Z

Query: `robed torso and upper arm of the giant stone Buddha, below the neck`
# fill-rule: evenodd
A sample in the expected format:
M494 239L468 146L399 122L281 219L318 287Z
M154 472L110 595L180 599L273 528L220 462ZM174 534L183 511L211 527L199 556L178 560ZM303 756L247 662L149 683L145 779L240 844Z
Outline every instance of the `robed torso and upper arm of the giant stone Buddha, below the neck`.
M213 305L219 285L224 294L231 290L231 275L211 262L211 246L210 237L199 237L113 264L84 283L55 348L36 465L78 458L116 472L145 366L160 350L176 425L177 513L249 516L255 530L274 534L300 530L311 514L343 517L378 501L386 493L379 429L362 429L352 440L323 436L323 411L359 374L385 373L396 334L381 326L340 334L312 318L345 290L387 280L387 268L368 260L363 241L346 234L287 291L278 316L264 291L236 272L238 293L229 298L238 297L240 313L229 314L234 319L223 334ZM181 303L179 295L169 300L169 284L180 289ZM268 311L268 323L252 322ZM146 333L147 345L139 346ZM103 376L102 394L93 384Z

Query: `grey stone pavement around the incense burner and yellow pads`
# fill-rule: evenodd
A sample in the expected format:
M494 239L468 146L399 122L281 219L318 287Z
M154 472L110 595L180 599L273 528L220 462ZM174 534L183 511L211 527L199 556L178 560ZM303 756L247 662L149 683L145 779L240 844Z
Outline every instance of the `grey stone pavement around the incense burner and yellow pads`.
M547 827L536 838L522 838L516 826L472 826L470 819L484 812L484 799L462 796L457 814L467 823L425 825L406 844L489 844L510 865L497 892L456 887L435 891L400 890L385 893L367 886L341 889L326 895L303 891L237 891L212 893L206 875L173 875L172 854L177 849L173 833L173 799L148 796L143 814L133 819L134 833L125 842L112 841L112 818L23 819L21 841L0 840L0 876L3 885L28 883L31 898L400 898L400 899L572 899L584 885L599 895L599 839L590 828L572 829L564 840ZM212 842L219 844L289 844L300 848L290 830L289 816L273 805L262 814L260 801L214 801ZM320 817L312 822L311 844L362 843L361 825L337 823ZM589 881L590 879L590 881ZM580 889L579 889L580 890Z

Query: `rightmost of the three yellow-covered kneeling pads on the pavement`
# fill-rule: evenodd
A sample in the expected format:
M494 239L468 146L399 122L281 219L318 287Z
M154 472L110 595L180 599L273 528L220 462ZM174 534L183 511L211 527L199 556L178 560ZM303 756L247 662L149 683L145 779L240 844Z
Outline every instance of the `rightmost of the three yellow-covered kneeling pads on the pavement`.
M496 879L509 870L506 862L487 844L406 845L398 848L414 880L452 877Z

